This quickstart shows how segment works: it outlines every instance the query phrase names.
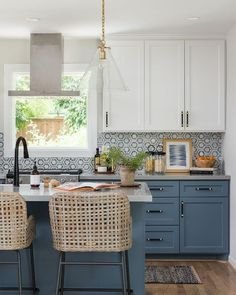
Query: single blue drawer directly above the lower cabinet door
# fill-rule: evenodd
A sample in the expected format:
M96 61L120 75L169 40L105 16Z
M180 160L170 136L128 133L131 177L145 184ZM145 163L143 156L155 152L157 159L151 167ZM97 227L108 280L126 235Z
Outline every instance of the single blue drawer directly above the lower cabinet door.
M228 181L181 181L181 197L227 197Z

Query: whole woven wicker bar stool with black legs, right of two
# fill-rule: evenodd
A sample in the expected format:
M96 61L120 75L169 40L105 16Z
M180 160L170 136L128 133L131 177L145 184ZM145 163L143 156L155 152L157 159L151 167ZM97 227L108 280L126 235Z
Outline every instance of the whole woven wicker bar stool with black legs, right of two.
M56 295L64 291L132 294L128 250L132 246L130 204L117 193L56 193L49 202L53 246L60 252ZM119 252L119 262L69 262L66 252ZM66 265L116 265L122 271L122 288L65 288ZM59 293L60 292L60 293Z

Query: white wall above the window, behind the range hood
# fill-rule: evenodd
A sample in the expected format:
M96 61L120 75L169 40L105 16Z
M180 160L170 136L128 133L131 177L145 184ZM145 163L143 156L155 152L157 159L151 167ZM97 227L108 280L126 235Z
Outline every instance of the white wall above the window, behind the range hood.
M97 41L81 39L64 40L64 63L89 63L97 47ZM29 63L29 40L0 39L0 132L3 131L3 81L4 64ZM9 98L10 99L10 98Z

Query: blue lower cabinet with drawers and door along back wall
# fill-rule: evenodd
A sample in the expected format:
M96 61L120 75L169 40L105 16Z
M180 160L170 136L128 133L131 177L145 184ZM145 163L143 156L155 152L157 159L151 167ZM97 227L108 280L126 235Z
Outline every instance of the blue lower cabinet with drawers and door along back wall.
M146 254L229 253L229 181L149 181Z

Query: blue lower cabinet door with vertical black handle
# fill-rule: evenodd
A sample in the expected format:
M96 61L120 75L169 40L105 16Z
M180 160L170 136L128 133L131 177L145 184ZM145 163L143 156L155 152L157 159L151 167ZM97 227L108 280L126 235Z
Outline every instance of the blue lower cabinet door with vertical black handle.
M228 198L181 198L180 211L181 253L228 253Z

